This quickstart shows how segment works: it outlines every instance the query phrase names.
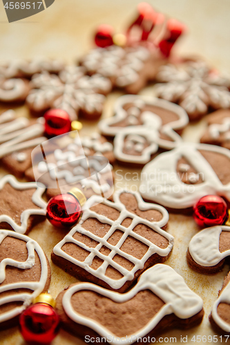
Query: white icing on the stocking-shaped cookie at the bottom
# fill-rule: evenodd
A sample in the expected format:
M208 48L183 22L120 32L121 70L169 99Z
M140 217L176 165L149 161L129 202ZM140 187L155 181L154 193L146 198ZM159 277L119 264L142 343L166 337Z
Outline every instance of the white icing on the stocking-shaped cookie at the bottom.
M75 311L71 304L71 298L80 290L94 291L99 295L110 298L117 304L121 304L132 299L142 290L151 290L152 293L162 299L164 306L162 306L160 311L155 314L146 326L141 328L140 331L137 331L135 334L132 334L135 336L132 340L129 338L131 335L127 335L129 339L126 339L125 337L120 339L118 335L111 333L108 328L102 326L99 322L90 319L90 317L84 317ZM144 337L152 331L166 315L173 313L177 317L180 317L180 319L188 319L189 317L194 316L202 311L203 302L198 295L190 290L184 282L184 279L178 275L173 268L163 264L157 264L142 273L137 284L134 288L128 291L128 293L116 293L90 283L75 284L68 288L64 293L62 306L66 315L68 315L73 322L87 326L107 339L110 339L108 337L111 336L111 339L113 339L111 344L118 345L132 344L138 337Z

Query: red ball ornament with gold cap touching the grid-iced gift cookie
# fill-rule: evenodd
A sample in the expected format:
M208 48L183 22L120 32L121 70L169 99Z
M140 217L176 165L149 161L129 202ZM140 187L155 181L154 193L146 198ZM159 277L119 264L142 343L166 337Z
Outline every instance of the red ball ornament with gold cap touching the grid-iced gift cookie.
M68 193L56 195L48 201L46 218L57 228L70 228L77 224L85 202L82 190L72 188Z

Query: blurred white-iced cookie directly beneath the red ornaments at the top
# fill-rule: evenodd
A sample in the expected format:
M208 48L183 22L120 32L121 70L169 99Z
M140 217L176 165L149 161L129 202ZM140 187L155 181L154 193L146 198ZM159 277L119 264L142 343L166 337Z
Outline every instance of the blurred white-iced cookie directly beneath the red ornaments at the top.
M157 69L166 62L160 52L144 46L95 48L85 55L80 64L89 75L99 73L111 79L114 87L126 93L138 93L155 78Z

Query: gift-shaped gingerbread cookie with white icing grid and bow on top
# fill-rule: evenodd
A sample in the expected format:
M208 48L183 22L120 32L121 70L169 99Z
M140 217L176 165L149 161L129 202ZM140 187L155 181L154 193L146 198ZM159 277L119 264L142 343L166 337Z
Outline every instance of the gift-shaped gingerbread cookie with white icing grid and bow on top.
M146 268L169 257L173 237L162 230L169 219L162 206L125 190L113 198L88 199L79 224L51 257L79 279L124 292Z

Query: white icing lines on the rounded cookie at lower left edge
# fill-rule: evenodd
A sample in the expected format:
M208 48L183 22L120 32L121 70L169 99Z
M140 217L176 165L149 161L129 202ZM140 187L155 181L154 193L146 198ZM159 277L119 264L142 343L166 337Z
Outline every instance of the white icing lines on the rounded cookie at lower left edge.
M0 263L0 294L6 291L13 291L18 288L26 288L29 290L33 290L32 293L15 293L6 295L5 297L0 298L0 306L3 304L7 304L10 302L23 302L22 306L13 308L10 311L6 311L5 313L0 314L0 323L8 321L13 317L21 314L31 303L32 300L35 299L40 293L44 291L46 286L46 281L48 279L48 264L46 261L46 255L44 254L43 250L35 242L33 239L30 239L28 236L21 235L19 233L15 233L14 231L8 230L0 230L0 244L3 240L7 237L14 237L17 239L21 239L22 241L26 242L26 247L28 249L28 259L26 262L16 261L10 258L3 259ZM39 260L41 263L41 277L39 282L15 282L12 284L6 284L1 286L1 283L4 282L6 276L6 266L17 267L21 270L28 270L35 265L35 251L39 256Z

